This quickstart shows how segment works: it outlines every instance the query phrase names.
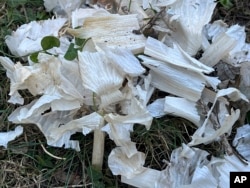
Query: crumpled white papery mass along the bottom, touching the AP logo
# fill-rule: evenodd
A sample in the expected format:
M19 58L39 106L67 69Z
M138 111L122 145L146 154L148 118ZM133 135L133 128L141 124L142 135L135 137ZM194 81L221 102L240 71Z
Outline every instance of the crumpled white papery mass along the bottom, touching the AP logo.
M250 170L250 165L243 164L235 155L225 156L224 159L212 157L210 161L208 155L204 150L182 144L172 152L165 170L143 167L132 177L122 175L122 182L143 188L224 188L229 187L229 172Z

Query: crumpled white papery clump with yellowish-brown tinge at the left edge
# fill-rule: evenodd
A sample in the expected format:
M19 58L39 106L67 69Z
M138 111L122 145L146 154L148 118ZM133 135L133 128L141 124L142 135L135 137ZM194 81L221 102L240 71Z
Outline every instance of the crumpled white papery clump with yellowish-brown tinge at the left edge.
M79 143L71 141L70 136L76 132L89 133L102 124L103 118L92 114L74 120L83 103L93 105L92 92L82 86L78 64L60 59L63 60L60 56L40 53L39 63L23 66L1 58L11 79L12 98L15 97L13 93L18 94L18 90L26 88L33 95L42 95L30 104L17 108L9 116L9 121L36 124L49 145L65 145L65 148L79 150Z

